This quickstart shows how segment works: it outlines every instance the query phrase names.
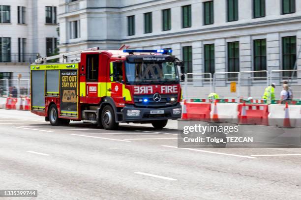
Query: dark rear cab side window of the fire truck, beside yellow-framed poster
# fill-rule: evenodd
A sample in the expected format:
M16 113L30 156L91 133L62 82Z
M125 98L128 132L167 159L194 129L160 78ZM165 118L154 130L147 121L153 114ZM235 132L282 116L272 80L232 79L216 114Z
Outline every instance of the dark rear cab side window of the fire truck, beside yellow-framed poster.
M87 55L87 81L97 82L98 81L98 54Z

